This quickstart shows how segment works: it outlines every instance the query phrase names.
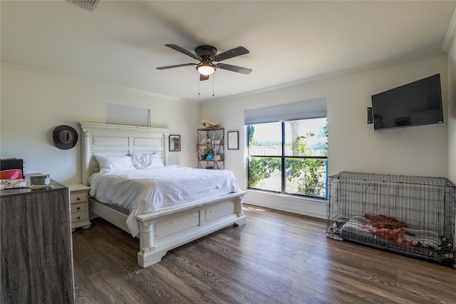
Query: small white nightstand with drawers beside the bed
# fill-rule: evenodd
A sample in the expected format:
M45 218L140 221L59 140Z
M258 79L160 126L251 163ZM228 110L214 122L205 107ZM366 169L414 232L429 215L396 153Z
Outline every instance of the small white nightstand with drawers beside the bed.
M88 191L90 187L81 183L69 185L71 203L71 228L90 228L88 220Z

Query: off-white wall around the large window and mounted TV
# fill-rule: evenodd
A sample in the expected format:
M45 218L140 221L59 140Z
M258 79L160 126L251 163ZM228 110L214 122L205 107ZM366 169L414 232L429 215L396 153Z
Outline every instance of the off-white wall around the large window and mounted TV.
M411 81L439 74L442 83L444 118L447 121L447 56L434 56L407 64L373 71L327 78L276 91L234 96L202 105L202 118L217 121L226 131L240 131L239 151L227 150L226 168L232 170L241 186L247 179L244 168L247 151L244 109L288 103L326 96L328 99L328 171L390 173L446 177L448 123L376 133L367 124L371 95ZM248 81L248 80L247 80ZM285 211L326 216L326 204L306 198L281 197L249 191L246 203Z

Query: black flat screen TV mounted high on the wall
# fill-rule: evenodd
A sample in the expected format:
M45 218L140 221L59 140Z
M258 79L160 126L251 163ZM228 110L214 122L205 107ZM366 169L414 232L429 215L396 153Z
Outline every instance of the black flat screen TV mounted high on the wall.
M372 96L374 131L443 123L440 74Z

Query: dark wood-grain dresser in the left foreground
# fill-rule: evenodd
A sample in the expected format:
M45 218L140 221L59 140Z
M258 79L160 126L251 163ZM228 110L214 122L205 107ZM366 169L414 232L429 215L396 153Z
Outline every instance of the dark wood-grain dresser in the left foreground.
M68 187L0 191L0 303L75 303Z

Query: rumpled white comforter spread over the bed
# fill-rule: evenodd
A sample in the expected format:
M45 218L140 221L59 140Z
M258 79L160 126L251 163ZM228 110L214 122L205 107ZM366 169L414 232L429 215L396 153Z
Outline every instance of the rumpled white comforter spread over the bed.
M130 211L133 236L139 233L135 216L241 191L231 171L176 165L94 173L88 181L90 196Z

